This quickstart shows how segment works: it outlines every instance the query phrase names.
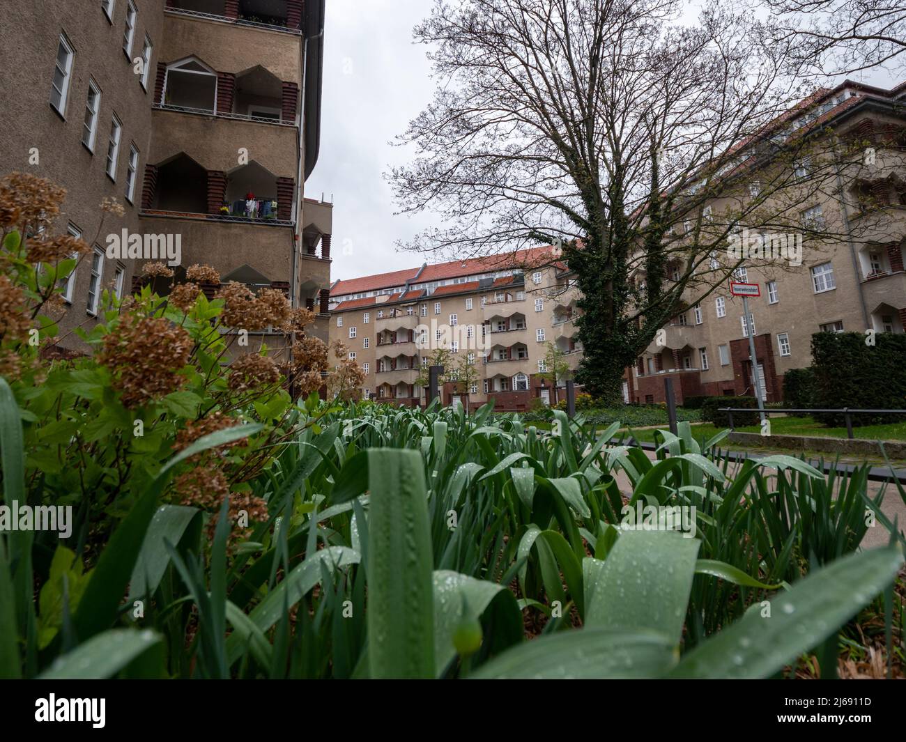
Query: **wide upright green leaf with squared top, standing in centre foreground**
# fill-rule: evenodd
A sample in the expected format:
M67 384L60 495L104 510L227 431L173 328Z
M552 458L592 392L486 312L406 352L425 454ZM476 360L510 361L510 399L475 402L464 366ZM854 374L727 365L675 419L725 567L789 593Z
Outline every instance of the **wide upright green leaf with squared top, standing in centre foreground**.
M371 677L433 678L434 559L424 465L417 451L370 448L368 474Z

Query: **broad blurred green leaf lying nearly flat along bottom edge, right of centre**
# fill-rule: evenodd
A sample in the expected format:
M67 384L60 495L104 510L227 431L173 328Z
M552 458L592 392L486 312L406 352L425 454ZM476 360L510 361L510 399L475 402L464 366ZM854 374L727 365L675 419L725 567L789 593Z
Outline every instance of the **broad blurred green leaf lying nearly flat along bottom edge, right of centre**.
M675 650L656 631L559 631L507 650L482 665L474 679L657 678Z

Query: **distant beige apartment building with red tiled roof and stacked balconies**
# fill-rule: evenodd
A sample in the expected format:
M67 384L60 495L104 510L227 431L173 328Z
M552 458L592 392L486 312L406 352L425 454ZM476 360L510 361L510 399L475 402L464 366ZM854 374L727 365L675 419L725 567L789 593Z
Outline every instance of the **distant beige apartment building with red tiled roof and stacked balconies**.
M547 343L573 371L581 353L575 289L558 258L538 247L337 281L331 341L348 346L365 371L363 396L377 400L424 404L419 368L443 348L454 369L463 360L475 369L467 384L444 384L446 404L474 409L493 399L496 410L526 410L533 398L553 402L557 391L541 376Z

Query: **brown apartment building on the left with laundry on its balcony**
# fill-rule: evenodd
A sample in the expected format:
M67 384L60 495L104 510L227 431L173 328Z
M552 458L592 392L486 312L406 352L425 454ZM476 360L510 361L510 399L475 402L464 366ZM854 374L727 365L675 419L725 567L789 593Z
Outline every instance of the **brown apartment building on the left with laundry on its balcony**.
M312 332L326 340L332 205L304 198L320 142L323 11L324 0L5 8L0 174L66 188L55 228L94 246L67 286L61 334L91 328L103 289L139 283L147 255L107 249L125 229L178 245L177 280L201 263L222 282L283 290L318 313ZM102 198L125 207L103 234ZM84 348L71 332L62 344Z

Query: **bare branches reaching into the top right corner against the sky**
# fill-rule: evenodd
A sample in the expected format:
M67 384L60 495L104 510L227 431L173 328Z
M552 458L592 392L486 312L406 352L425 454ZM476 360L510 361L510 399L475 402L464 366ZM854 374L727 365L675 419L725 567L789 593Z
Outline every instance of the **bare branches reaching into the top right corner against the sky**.
M817 75L904 68L906 5L890 0L766 0L772 34Z

